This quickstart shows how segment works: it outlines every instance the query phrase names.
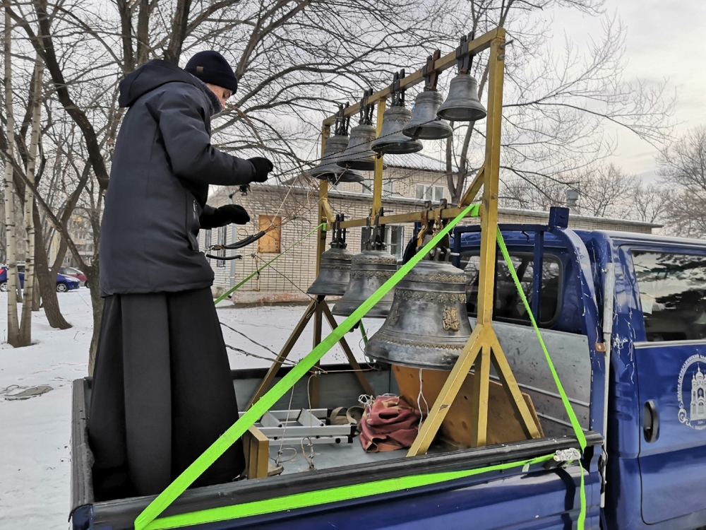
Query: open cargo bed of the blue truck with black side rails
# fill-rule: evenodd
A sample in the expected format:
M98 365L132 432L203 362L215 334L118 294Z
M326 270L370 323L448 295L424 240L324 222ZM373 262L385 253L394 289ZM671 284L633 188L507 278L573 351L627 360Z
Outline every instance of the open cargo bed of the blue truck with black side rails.
M333 370L346 370L347 367L332 367ZM284 375L287 369L283 369L280 375ZM256 385L265 375L265 370L235 370L233 373L234 385L237 391L239 403L246 403L249 395L252 394ZM389 370L366 372L366 377L373 385L376 393L395 391L394 378L390 376ZM287 394L275 405L275 408L287 408L289 400L292 400L292 408L304 407L307 405L308 396L306 392L306 380L300 381L294 388L294 394ZM71 520L72 528L78 529L131 529L138 514L152 501L154 497L131 497L128 499L112 500L107 502L94 502L92 493L92 482L90 466L92 457L88 447L88 433L86 430L88 403L90 403L91 379L77 379L73 382L73 420L72 420L72 469L71 469ZM359 386L354 375L350 372L330 373L321 377L321 404L322 407L333 408L333 406L353 405L357 398ZM602 437L595 432L587 432L587 440L592 446L599 446ZM270 457L279 446L273 442L270 446ZM419 473L434 473L441 471L457 471L462 469L474 469L490 464L498 464L507 461L518 461L529 459L545 454L552 454L558 449L568 449L578 447L578 442L573 435L563 437L546 437L541 440L529 440L501 444L477 449L461 449L448 451L443 446L433 446L429 454L415 458L406 458L405 451L393 451L385 453L366 453L361 449L359 440L354 439L352 444L316 444L315 448L315 471L301 472L308 469L308 464L301 457L301 450L297 451L297 459L285 462L285 473L281 476L268 478L256 478L253 480L237 481L234 483L214 485L205 488L193 488L187 490L177 501L173 503L164 515L181 514L205 510L213 507L223 507L240 504L256 500L264 500L282 495L291 495L308 491L316 491L325 488L333 488L342 485L366 483L383 478L397 478ZM591 473L587 473L587 486L593 485L593 489L599 485L599 477L595 461L598 451L592 451L592 447L587 449L585 465L590 466ZM285 459L287 455L285 454ZM527 520L547 522L556 521L558 528L563 528L563 522L575 520L578 517L578 482L580 473L577 465L568 468L544 469L543 466L533 466L529 472L522 468L510 469L502 472L483 473L481 475L454 481L453 485L443 484L429 486L425 488L415 488L413 492L390 493L383 495L384 499L378 497L364 498L347 503L338 503L337 510L331 510L328 505L312 507L307 510L294 510L294 512L277 512L261 516L247 517L244 519L233 519L221 523L192 526L203 529L236 529L236 528L317 528L318 525L330 526L334 524L336 528L355 527L361 528L392 528L397 524L402 524L404 519L409 517L405 528L413 528L416 524L423 524L425 519L432 517L433 526L429 526L429 520L424 523L425 528L436 526L440 515L436 513L439 507L448 503L453 498L454 492L464 490L474 491L472 495L465 495L463 502L455 500L455 508L448 507L447 510L457 513L456 523L449 522L449 528L460 528L461 522L467 522L469 514L473 517L492 517L497 519L496 523L491 523L479 528L496 528L503 522L511 522L513 517L500 512L487 510L493 504L503 503L507 500L507 495L514 497L527 497L527 510L532 512L532 517L527 516L528 512L517 513L517 528L523 526ZM480 486L485 484L485 486ZM489 484L492 487L489 488ZM471 488L472 485L479 485L479 488ZM517 487L523 486L522 490ZM534 488L526 486L534 485ZM419 491L418 491L419 490ZM490 495L490 496L489 496ZM384 502L380 502L384 501ZM383 510L384 513L395 514L393 519L385 519L378 514L374 520L360 525L361 507L374 505L373 512ZM597 504L597 500L590 502L590 505ZM392 512L388 512L387 506ZM397 508L393 508L393 505ZM499 505L498 505L499 506ZM401 510L401 511L400 511ZM430 512L431 510L431 512ZM513 511L517 510L517 505ZM306 514L304 514L306 512ZM463 514L468 512L467 514ZM482 514L481 514L482 512ZM546 513L544 513L546 512ZM368 513L368 512L366 512ZM382 512L381 512L382 513ZM595 516L597 517L597 507ZM544 515L542 515L544 514ZM591 510L589 515L591 514ZM537 516L537 517L535 517ZM323 517L323 519L321 519ZM366 519L368 516L364 517ZM492 519L491 517L491 519ZM498 519L500 517L500 519ZM568 519L567 519L568 517ZM318 522L315 522L318 521ZM393 521L397 521L393 525ZM562 522L563 521L563 522ZM596 519L597 521L597 519ZM537 526L537 528L551 528L554 526ZM334 527L334 526L330 526ZM587 528L590 525L587 525Z

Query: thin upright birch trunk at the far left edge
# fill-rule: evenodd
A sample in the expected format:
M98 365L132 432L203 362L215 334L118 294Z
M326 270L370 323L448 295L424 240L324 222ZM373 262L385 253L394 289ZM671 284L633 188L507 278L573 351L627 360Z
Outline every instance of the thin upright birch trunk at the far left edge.
M17 318L17 248L15 226L15 184L13 182L12 160L15 143L15 119L12 112L12 25L9 6L5 6L4 61L5 61L5 112L7 115L7 159L5 163L5 233L7 244L7 341L11 346L19 346L20 323Z

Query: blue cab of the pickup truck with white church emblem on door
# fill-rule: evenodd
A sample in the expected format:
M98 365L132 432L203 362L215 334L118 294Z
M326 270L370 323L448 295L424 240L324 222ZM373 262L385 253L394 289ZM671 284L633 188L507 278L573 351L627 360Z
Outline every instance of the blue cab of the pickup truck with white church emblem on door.
M587 401L591 428L605 440L607 527L706 524L699 471L706 464L706 243L601 230L501 229L543 333L590 337ZM469 274L467 307L473 314L479 234L466 230L458 230L457 263ZM529 324L499 254L493 319ZM549 353L561 365L564 353L551 347ZM609 358L606 389L601 355ZM572 387L570 377L562 380ZM599 394L606 390L606 409L600 411ZM584 404L578 401L581 418ZM551 432L549 418L542 419Z

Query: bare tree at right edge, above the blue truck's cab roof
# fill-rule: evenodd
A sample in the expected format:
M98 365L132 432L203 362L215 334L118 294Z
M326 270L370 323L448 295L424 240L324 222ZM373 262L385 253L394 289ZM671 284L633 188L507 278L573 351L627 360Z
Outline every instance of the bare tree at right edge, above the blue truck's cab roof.
M688 131L659 156L671 230L706 237L706 126Z

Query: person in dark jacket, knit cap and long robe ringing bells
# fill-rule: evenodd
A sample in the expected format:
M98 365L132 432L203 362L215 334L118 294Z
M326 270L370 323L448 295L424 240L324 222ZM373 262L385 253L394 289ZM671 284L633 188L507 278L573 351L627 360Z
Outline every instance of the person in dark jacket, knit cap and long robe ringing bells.
M88 438L97 500L160 493L238 419L228 356L198 230L249 222L206 204L209 184L264 182L267 158L210 143L210 119L237 90L221 54L182 70L144 64L120 83L127 107L112 158L100 240L104 297ZM194 485L244 469L234 444Z

